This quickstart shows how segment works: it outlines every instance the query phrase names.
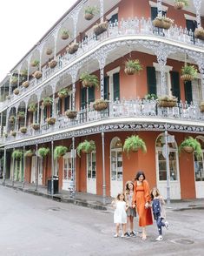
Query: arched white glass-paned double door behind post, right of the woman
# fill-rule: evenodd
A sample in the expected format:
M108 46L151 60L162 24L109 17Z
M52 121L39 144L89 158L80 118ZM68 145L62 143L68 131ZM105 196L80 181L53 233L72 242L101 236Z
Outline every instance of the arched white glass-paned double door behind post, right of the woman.
M156 141L156 180L157 187L164 199L167 199L167 165L163 156L162 136ZM169 146L169 185L170 199L181 199L181 185L178 164L178 149L176 143L168 143Z

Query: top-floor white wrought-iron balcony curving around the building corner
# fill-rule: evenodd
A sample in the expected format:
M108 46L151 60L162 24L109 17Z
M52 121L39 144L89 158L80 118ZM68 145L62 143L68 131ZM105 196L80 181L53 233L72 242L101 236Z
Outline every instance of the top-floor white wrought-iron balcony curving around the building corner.
M187 29L182 29L176 25L171 27L169 30L155 28L152 24L151 19L145 18L129 18L123 20L118 24L109 23L107 31L104 31L101 35L95 36L92 32L79 43L78 51L74 54L70 54L68 51L64 54L56 57L56 67L50 68L48 65L43 66L43 75L41 78L31 78L30 86L28 88L19 86L19 94L10 94L10 98L6 99L0 105L0 111L3 111L8 104L15 104L24 96L31 93L31 91L39 86L49 82L52 77L60 75L66 71L72 64L80 62L83 57L87 57L93 53L96 49L100 48L104 44L111 44L117 41L128 41L128 40L155 40L162 41L165 44L179 45L183 48L188 48L192 51L204 52L204 41L198 38L194 38L194 33ZM123 52L122 54L125 54Z

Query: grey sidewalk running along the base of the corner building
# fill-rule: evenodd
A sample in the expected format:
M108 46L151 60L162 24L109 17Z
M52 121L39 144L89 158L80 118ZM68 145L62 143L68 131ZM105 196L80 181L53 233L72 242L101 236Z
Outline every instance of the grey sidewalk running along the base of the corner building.
M0 179L0 185L3 185L3 179ZM92 209L113 212L113 208L110 205L112 198L106 197L105 204L102 196L86 193L76 192L74 197L71 197L70 192L60 192L51 196L47 191L47 186L25 183L23 187L22 182L15 181L12 185L10 179L6 179L5 186L20 190L23 192L31 193L33 195L42 196L48 199L54 199L64 203L70 203L74 205L81 205ZM204 209L204 199L182 199L171 200L171 203L167 205L169 211L184 211L188 209Z

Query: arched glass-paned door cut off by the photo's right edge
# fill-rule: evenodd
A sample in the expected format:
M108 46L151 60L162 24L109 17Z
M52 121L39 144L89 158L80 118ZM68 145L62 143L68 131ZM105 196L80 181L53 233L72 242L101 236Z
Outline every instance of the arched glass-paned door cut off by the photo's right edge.
M197 138L201 143L202 157L198 158L194 154L194 180L196 199L204 198L204 138Z

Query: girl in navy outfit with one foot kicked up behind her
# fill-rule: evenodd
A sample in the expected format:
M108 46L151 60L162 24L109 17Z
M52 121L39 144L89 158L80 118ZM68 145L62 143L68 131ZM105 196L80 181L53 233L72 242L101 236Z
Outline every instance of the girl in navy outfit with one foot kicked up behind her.
M163 205L165 205L164 200L162 199L159 190L154 187L151 191L152 198L152 211L156 220L156 225L158 227L159 236L156 239L157 241L162 241L162 226L169 228L168 222L163 222L163 219L166 219L166 213Z

